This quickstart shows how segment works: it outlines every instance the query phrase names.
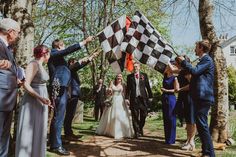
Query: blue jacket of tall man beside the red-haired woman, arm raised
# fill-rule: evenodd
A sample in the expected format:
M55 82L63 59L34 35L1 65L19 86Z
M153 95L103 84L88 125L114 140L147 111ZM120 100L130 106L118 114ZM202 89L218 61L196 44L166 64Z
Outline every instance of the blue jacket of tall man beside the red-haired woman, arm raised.
M48 61L50 84L52 84L54 78L57 78L60 82L60 86L69 86L71 80L71 72L66 60L64 59L64 56L71 54L79 50L80 48L80 44L74 44L61 51L58 51L57 49L51 50L51 56Z

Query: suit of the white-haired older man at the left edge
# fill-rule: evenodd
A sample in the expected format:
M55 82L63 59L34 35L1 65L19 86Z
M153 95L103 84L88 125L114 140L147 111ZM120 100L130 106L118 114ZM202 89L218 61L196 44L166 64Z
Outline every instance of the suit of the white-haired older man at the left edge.
M17 97L17 66L11 49L0 39L0 60L9 60L10 69L0 69L0 156L8 156L12 110Z

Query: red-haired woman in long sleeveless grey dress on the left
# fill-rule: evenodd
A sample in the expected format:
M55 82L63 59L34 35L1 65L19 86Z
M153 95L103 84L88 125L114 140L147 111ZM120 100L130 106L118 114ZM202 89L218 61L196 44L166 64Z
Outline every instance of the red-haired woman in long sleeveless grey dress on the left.
M43 64L49 57L49 49L39 45L34 48L35 59L26 68L26 92L20 102L16 157L46 156L48 106L51 102L46 87L49 76Z

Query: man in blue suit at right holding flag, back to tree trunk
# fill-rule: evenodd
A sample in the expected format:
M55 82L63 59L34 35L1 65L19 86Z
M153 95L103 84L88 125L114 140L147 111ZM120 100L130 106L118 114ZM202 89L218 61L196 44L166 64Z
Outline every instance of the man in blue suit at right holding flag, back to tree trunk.
M196 42L195 52L199 56L199 63L192 67L184 58L177 57L183 69L192 74L190 81L190 95L195 105L195 119L198 134L202 142L202 156L215 157L212 139L207 123L207 115L214 104L214 63L208 55L211 45L208 40Z

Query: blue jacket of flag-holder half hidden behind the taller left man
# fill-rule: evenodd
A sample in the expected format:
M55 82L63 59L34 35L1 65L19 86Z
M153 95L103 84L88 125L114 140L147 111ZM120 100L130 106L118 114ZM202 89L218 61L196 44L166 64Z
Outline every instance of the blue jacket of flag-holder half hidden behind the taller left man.
M79 63L76 62L74 65L70 66L71 70L71 95L79 97L80 96L80 79L78 75L78 70L85 67L90 61Z

